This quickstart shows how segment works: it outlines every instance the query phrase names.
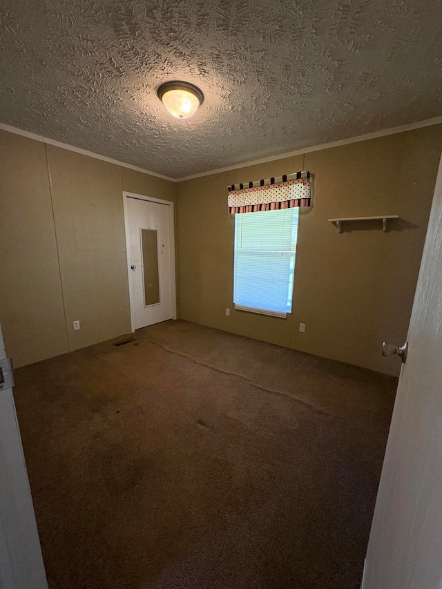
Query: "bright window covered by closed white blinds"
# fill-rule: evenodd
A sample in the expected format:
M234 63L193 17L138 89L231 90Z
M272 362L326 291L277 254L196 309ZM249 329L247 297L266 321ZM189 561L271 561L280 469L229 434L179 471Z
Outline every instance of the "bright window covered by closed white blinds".
M298 211L235 215L236 309L278 317L291 312Z

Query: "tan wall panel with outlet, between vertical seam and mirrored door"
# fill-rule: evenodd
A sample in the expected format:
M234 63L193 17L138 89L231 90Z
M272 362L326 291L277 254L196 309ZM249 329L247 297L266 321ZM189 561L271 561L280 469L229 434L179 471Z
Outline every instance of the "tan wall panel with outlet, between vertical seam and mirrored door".
M131 331L122 173L73 151L47 151L69 349L77 349Z

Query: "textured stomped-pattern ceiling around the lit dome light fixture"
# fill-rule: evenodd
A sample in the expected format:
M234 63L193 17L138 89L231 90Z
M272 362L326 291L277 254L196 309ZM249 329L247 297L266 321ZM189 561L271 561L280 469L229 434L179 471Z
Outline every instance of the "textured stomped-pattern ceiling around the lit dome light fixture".
M170 177L442 112L438 0L2 1L0 122Z

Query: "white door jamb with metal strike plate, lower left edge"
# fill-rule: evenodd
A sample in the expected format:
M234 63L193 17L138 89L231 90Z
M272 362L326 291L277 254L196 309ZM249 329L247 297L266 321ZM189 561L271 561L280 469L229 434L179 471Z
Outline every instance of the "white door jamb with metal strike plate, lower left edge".
M6 358L0 326L0 360ZM47 589L12 388L0 373L0 588Z

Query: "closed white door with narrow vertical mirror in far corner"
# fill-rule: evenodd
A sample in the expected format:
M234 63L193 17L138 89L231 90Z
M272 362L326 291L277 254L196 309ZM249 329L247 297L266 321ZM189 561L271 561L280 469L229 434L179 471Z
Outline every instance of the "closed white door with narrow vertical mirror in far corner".
M176 317L171 207L124 195L132 331Z

